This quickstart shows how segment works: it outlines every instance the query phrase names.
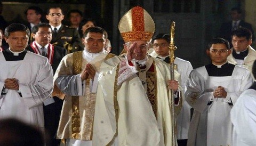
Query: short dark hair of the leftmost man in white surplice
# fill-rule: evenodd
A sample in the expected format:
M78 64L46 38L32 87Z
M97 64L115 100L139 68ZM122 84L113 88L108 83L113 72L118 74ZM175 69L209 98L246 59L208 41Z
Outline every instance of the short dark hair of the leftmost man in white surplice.
M30 36L29 28L26 27L25 25L22 25L21 23L12 23L10 26L7 26L4 30L4 36L8 38L10 36L10 33L16 31L24 31L26 32L28 37Z

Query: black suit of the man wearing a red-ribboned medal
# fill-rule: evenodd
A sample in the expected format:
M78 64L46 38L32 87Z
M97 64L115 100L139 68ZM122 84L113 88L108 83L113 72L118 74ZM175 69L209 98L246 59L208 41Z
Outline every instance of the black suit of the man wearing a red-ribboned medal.
M26 48L28 51L34 52L33 48L30 45ZM35 53L35 52L34 52ZM53 60L52 60L52 69L55 74L60 61L62 60L63 56L67 54L67 50L65 48L59 47L54 45L54 52L53 52ZM44 126L46 132L49 133L50 136L50 143L46 145L58 145L60 140L56 140L57 129L59 126L60 121L60 112L62 109L63 100L59 99L57 96L53 97L54 103L49 104L47 106L43 106L44 108Z

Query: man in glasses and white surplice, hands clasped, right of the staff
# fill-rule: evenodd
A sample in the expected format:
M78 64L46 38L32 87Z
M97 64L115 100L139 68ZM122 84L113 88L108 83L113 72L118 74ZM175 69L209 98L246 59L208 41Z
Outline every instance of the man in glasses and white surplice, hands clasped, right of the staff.
M227 62L226 39L213 38L206 53L212 63L192 70L186 83L186 100L194 108L187 145L232 145L230 110L253 78L248 69Z

